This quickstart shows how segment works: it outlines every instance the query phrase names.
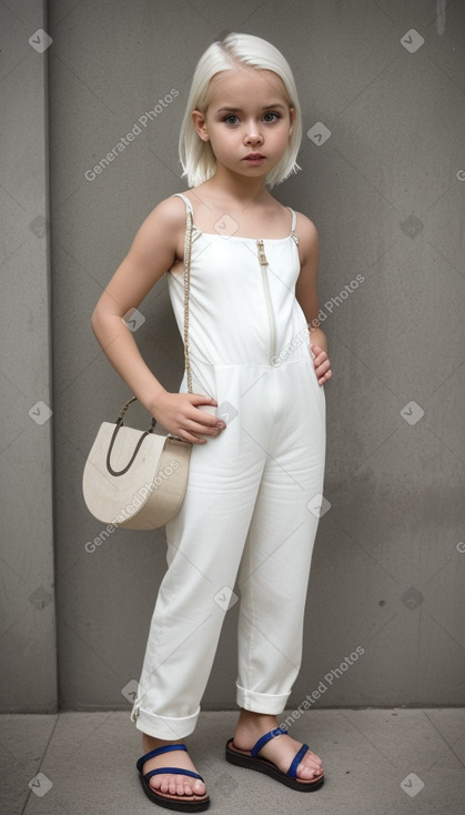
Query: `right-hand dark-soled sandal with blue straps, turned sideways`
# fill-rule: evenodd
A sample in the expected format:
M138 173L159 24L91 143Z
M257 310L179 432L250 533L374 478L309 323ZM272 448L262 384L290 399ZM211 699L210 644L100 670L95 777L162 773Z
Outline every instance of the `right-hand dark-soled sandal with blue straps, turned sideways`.
M303 793L311 793L314 789L321 787L324 782L323 775L315 781L305 781L303 778L297 778L297 767L305 753L310 749L307 744L303 744L299 753L296 753L290 768L287 769L287 773L283 773L276 767L275 764L273 764L273 762L269 761L267 758L262 758L261 756L259 756L262 747L264 747L264 745L270 742L271 738L281 736L281 734L286 735L287 731L284 727L275 727L274 730L270 731L270 733L265 733L264 736L259 738L252 749L239 749L239 747L234 746L234 739L230 738L226 743L226 762L230 762L230 764L235 764L237 767L256 769L259 773L264 773L271 778L281 782L281 784L284 784L286 787L291 787L291 789L299 789Z

